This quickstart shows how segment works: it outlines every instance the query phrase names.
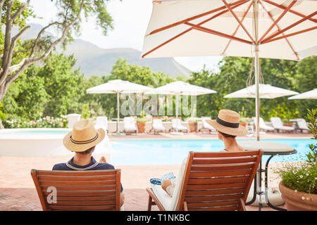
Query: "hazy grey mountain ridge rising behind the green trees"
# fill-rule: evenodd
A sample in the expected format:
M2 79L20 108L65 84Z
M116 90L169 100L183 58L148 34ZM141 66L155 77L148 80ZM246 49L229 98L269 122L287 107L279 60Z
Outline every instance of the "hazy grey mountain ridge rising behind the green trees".
M37 37L42 25L30 24L31 27L25 34L23 39L32 39ZM15 30L17 32L17 29ZM14 33L14 31L13 31ZM14 35L14 34L13 34ZM51 35L46 32L46 35ZM57 46L56 51L61 53L63 49L61 45ZM102 49L96 44L83 39L75 39L66 46L66 55L73 54L77 62L75 69L80 68L80 71L85 74L85 77L92 75L104 76L111 73L113 65L118 58L126 59L130 64L149 67L153 72L163 72L170 77L185 75L189 77L190 70L184 65L178 63L174 58L141 58L141 51L132 48L113 48Z

